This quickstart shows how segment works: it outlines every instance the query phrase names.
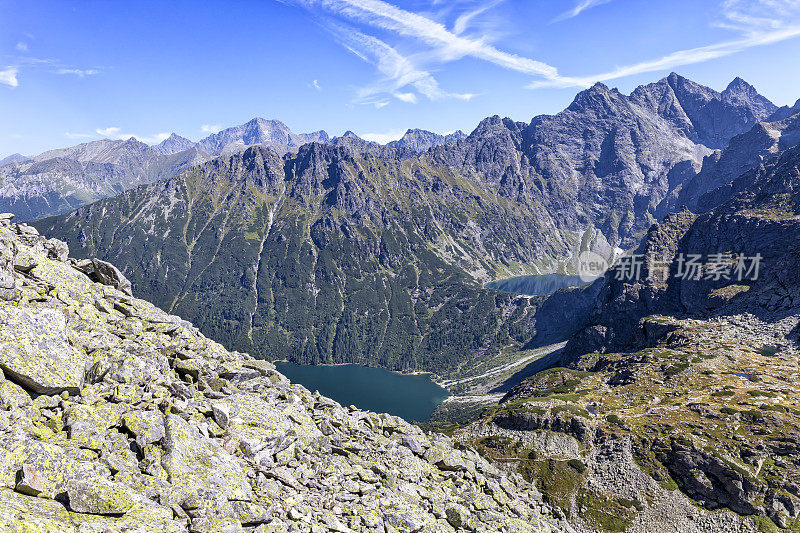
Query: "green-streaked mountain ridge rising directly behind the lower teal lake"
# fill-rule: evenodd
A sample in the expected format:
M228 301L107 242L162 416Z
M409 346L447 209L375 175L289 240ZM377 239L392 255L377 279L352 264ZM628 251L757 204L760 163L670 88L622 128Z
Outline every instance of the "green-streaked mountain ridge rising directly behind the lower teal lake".
M37 226L115 258L137 294L227 346L451 374L530 336L528 299L465 269L486 275L563 238L531 235L535 213L417 166L318 144L284 162L254 147ZM494 230L478 240L476 228Z

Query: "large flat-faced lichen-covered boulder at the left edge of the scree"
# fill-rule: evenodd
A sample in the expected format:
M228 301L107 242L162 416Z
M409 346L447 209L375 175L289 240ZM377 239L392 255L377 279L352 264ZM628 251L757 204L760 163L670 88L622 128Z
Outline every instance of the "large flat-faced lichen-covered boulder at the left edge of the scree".
M64 314L53 309L0 307L0 368L38 394L76 393L85 354L67 339Z

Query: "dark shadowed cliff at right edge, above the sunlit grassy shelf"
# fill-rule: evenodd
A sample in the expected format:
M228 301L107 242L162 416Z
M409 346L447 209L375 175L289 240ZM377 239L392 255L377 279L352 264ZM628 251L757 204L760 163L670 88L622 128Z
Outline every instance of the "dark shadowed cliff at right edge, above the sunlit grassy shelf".
M789 149L715 191L715 202L728 200L709 213L697 216L683 211L654 225L635 252L642 258L641 279L617 279L614 270L606 274L593 325L570 341L567 357L636 345L641 341L639 320L652 314L714 316L746 311L774 319L795 313L800 308L800 287L792 274L800 267L798 168L800 148ZM701 254L703 262L714 254L731 254L730 261L739 254L760 255L758 277L741 281L706 279L702 274L701 279L683 279L678 276L680 257L691 254ZM651 261L665 261L669 277L651 279Z

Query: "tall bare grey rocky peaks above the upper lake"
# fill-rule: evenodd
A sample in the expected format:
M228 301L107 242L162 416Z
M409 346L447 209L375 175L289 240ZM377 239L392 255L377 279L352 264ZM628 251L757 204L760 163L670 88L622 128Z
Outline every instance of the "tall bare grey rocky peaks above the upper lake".
M505 197L541 205L559 228L592 225L629 247L711 148L774 110L741 80L717 93L673 73L630 96L598 83L556 115L530 124L490 117L429 157Z

